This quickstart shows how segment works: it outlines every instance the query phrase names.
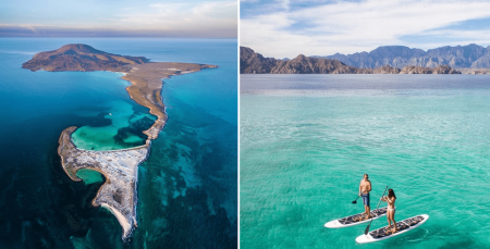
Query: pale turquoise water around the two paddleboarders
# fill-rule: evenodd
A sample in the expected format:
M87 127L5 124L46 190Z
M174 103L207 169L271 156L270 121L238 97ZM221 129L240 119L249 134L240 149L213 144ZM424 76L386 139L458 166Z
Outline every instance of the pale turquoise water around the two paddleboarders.
M241 248L487 248L490 77L242 75ZM421 227L356 245L328 229L394 189L395 220ZM384 207L385 203L381 203ZM370 228L385 226L384 217Z

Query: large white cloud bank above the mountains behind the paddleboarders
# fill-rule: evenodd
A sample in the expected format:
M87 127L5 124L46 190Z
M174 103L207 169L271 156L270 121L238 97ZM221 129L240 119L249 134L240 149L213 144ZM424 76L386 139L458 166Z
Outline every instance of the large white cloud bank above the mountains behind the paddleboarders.
M241 45L277 58L369 51L378 46L404 45L403 36L430 35L431 29L488 17L488 10L489 1L454 0L366 0L290 9L241 20ZM307 25L303 29L290 27L295 23ZM467 37L468 42L490 42L490 37L481 33L458 33L439 34ZM421 42L411 45L426 47Z

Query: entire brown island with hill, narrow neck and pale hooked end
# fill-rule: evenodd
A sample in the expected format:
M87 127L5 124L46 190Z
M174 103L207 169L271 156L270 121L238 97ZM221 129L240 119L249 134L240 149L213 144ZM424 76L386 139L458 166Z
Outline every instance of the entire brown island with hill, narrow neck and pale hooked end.
M87 45L65 45L58 50L36 53L32 60L22 64L33 72L61 71L110 71L124 73L123 79L131 82L126 88L131 98L158 119L154 125L143 132L148 136L146 145L111 151L90 151L76 148L71 135L76 130L72 126L60 136L58 153L64 172L72 180L82 180L76 176L79 169L89 169L105 175L106 182L93 200L94 206L102 206L111 211L123 228L122 238L131 236L136 223L137 166L147 157L151 140L163 128L167 115L161 99L162 78L194 73L216 65L150 62L144 57L126 57L107 53Z

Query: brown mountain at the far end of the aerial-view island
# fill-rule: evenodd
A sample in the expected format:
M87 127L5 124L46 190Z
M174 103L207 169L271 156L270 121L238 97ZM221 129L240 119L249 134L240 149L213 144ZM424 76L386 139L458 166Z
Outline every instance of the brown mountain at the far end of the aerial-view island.
M36 53L22 64L30 71L118 71L131 64L143 64L144 57L124 57L97 50L88 45L65 45L57 50ZM117 70L118 69L118 70ZM131 67L127 67L130 70Z

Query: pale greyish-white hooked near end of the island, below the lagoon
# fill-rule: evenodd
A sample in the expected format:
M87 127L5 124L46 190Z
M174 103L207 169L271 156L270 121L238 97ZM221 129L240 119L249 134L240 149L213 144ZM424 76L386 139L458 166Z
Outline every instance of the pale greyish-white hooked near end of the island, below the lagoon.
M93 204L108 208L115 215L123 228L122 238L131 235L136 224L136 187L138 165L148 155L150 141L146 146L137 148L91 151L77 149L71 135L76 130L75 126L61 133L58 153L64 172L72 180L81 182L76 176L79 169L98 171L106 176L106 183L100 187Z

